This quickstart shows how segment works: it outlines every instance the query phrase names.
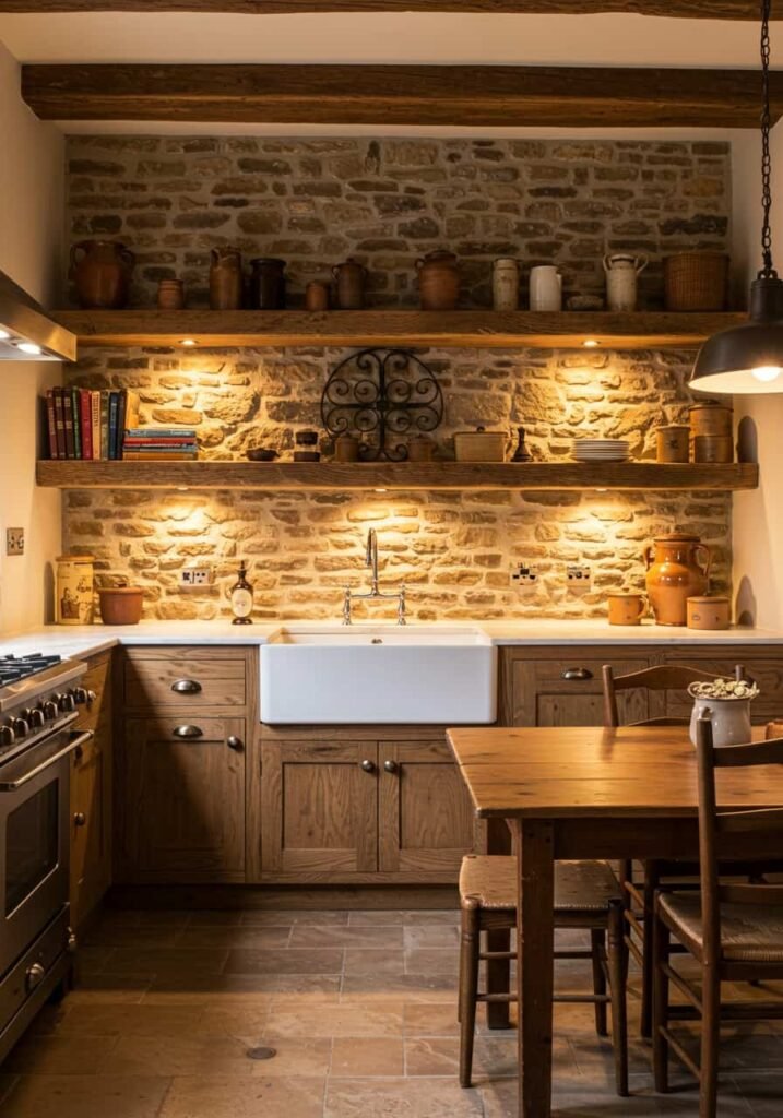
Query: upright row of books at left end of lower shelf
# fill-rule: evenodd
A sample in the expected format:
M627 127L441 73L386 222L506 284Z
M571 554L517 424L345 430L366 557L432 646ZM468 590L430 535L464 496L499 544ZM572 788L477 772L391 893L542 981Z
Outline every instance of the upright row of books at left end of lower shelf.
M122 433L139 421L135 392L50 388L46 430L50 458L121 458Z

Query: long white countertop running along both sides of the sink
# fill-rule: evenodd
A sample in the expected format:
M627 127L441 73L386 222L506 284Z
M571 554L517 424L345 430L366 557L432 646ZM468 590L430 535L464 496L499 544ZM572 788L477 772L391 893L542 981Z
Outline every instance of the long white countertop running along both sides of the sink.
M415 623L414 623L415 624ZM604 620L443 622L444 628L482 629L497 645L638 645L783 644L783 631L730 628L700 631L645 623L609 625ZM432 627L432 623L426 623ZM337 622L141 622L139 625L45 625L27 633L0 637L0 655L48 652L60 656L88 656L114 645L155 644L265 644L279 628L324 629ZM357 624L356 628L361 625ZM389 627L394 627L389 623Z

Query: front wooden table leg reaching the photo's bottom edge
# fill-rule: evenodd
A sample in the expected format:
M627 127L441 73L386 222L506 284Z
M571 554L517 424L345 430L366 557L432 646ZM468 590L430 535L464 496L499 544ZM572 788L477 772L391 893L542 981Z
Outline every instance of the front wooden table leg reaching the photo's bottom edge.
M519 1118L549 1118L555 950L553 826L536 819L520 819L515 825L519 868Z

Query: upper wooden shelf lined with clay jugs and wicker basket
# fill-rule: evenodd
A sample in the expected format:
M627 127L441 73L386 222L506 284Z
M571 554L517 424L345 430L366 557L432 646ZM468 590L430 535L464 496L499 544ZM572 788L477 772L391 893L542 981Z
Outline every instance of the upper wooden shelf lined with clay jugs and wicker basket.
M744 313L564 311L56 311L81 345L441 345L463 349L697 348Z

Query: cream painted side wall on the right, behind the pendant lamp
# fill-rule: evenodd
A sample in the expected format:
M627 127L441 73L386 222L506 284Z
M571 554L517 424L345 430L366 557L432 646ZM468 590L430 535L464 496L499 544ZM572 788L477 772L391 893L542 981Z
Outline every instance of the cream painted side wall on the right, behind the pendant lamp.
M755 277L761 250L761 149L755 133L737 138L734 164L734 258L746 281ZM773 246L783 263L783 131L773 133ZM737 269L739 272L739 269ZM734 590L738 619L783 626L783 394L735 397L735 420L745 456L761 463L761 485L737 493L734 503Z

